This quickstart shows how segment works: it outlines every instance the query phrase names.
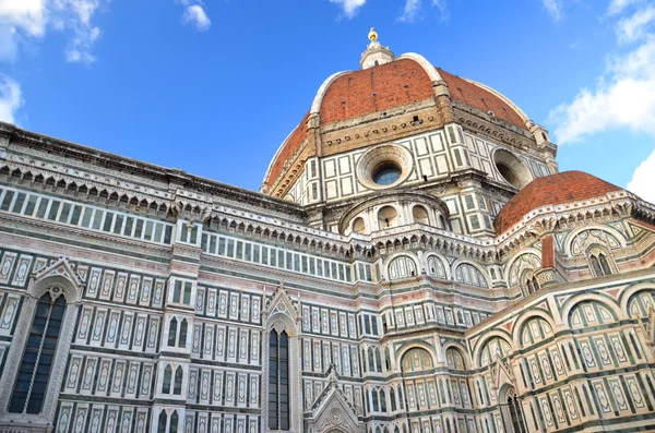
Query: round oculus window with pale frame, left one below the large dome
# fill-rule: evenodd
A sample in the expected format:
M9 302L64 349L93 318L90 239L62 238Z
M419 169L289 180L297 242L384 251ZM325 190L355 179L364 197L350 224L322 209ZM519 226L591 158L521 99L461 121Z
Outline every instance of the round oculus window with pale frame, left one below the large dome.
M365 153L357 163L359 181L371 190L397 185L412 172L412 155L394 144L380 145Z

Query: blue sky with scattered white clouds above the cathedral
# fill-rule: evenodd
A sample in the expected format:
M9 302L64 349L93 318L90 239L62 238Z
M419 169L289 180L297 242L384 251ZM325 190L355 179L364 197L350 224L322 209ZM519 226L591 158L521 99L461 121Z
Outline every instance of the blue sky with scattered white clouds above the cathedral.
M257 190L374 26L513 99L580 169L655 201L645 0L0 0L0 120Z

